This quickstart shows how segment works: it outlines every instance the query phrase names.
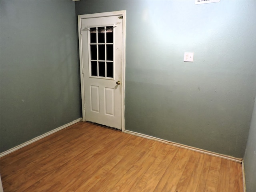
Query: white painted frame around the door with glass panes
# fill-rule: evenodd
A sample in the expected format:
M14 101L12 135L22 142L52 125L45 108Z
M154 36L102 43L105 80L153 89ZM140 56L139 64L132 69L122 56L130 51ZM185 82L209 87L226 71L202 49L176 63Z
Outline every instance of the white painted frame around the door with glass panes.
M80 83L81 83L81 98L82 98L82 121L86 121L85 114L85 95L84 95L84 64L82 56L82 19L100 18L108 16L122 16L122 120L121 130L124 132L124 90L125 90L125 38L126 38L126 10L93 13L78 15L78 42L79 42L79 61L80 61Z

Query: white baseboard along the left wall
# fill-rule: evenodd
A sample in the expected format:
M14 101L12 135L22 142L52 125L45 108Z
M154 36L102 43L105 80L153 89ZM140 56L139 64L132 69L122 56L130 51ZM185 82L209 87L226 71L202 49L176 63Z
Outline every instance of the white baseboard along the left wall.
M29 140L29 141L24 142L24 143L22 143L22 144L20 144L20 145L18 145L18 146L16 146L16 147L14 147L14 148L11 148L11 149L9 149L9 150L7 150L7 151L4 151L4 152L2 152L2 153L0 154L0 158L1 158L2 156L5 156L5 155L7 155L7 154L10 154L10 153L12 153L12 152L18 150L18 149L20 149L20 148L22 148L22 147L24 147L24 146L27 146L27 145L29 145L29 144L31 144L31 143L34 143L34 142L36 142L36 141L38 141L38 140L40 140L40 139L42 139L42 138L44 138L44 137L46 137L46 136L48 136L48 135L50 135L50 134L53 134L53 133L55 133L55 132L57 132L57 131L60 131L60 130L62 130L62 129L64 129L64 128L67 128L68 126L71 126L71 125L73 125L73 124L76 124L76 123L78 123L78 122L80 122L80 121L81 121L81 118L76 119L76 120L74 120L74 121L72 121L72 122L70 122L70 123L67 123L67 124L65 124L65 125L62 125L62 126L56 128L56 129L54 129L54 130L51 130L51 131L49 131L49 132L47 132L47 133L45 133L45 134L42 134L42 135L40 135L40 136L38 136L38 137L35 137L35 138L32 139L32 140Z

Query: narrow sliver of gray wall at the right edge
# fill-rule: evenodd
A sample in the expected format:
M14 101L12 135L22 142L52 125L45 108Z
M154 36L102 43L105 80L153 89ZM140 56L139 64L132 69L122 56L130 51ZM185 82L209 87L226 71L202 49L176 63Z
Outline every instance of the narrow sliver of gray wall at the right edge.
M246 192L256 191L256 102L244 155Z

